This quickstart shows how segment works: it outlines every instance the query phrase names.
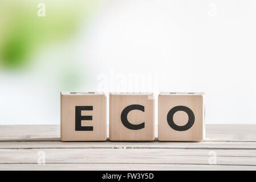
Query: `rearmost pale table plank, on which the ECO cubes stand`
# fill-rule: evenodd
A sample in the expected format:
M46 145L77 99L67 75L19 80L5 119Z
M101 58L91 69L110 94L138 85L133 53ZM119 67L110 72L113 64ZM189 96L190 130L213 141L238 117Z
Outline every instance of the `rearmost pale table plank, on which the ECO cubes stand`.
M59 125L0 125L0 141L59 140L59 129ZM256 125L206 125L206 141L256 142Z

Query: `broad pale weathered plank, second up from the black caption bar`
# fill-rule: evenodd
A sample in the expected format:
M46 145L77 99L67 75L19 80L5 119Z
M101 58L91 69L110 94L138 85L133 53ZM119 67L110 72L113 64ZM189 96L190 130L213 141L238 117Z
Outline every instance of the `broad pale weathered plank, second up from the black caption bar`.
M256 166L256 150L182 150L182 149L109 149L55 148L0 149L0 163L37 163L38 151L46 154L46 163L109 163L109 164L209 164L216 155L216 164Z

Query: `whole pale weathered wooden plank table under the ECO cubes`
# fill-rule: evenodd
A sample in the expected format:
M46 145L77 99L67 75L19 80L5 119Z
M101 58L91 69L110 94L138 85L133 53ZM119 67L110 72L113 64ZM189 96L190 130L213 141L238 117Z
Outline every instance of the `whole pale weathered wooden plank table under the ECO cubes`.
M0 125L0 170L256 170L256 125L206 125L204 142L60 142L59 135L59 125ZM42 152L46 163L38 164Z

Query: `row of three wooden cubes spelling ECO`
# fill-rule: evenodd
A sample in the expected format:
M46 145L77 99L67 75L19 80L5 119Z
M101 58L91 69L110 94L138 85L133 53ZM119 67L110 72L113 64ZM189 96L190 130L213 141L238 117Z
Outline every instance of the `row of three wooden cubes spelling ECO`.
M104 93L61 92L60 103L62 141L107 140ZM204 93L161 92L158 109L158 140L204 140ZM153 93L109 94L109 140L155 140Z

